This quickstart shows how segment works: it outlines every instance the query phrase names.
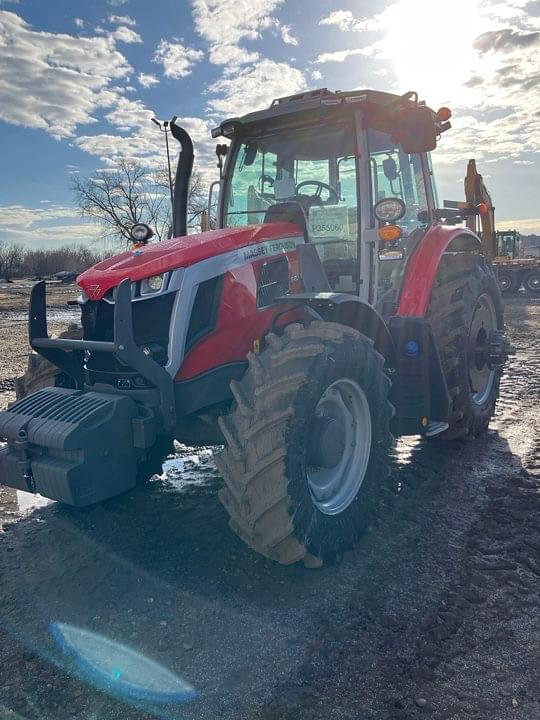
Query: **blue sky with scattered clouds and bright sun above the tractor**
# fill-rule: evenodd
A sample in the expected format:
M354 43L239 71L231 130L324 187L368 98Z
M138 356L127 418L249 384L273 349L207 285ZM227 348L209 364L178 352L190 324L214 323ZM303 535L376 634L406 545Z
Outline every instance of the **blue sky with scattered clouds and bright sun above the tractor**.
M474 157L499 228L540 233L540 0L0 0L0 239L93 241L73 176L160 165L152 117L212 179L221 119L318 87L449 106L439 197Z

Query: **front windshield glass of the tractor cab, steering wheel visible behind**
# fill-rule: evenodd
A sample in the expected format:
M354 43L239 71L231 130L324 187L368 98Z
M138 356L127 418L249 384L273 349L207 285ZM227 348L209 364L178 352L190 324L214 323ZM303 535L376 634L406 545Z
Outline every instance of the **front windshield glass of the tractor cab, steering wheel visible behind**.
M356 133L351 119L247 135L225 188L224 227L292 222L313 242L334 288L357 286Z

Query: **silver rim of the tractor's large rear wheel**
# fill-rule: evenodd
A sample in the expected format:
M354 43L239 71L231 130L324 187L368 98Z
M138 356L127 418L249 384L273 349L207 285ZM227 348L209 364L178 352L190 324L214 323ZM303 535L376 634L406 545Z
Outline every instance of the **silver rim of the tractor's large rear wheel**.
M495 381L495 370L489 364L489 343L497 329L495 306L489 295L481 295L474 308L469 330L469 381L472 399L483 405L489 398Z

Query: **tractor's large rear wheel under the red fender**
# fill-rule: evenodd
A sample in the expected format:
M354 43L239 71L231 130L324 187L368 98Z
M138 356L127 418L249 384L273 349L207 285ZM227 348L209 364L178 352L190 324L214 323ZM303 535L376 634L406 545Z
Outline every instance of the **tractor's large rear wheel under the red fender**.
M492 267L479 256L445 256L428 320L452 398L441 439L475 437L495 412L502 370L490 362L503 328L503 303Z

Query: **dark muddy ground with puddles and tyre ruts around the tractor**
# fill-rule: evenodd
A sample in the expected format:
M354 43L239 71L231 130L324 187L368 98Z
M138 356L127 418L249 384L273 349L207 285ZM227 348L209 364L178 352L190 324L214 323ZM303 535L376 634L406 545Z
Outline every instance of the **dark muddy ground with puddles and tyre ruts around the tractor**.
M26 353L10 312L4 382ZM0 717L540 718L540 300L511 299L506 318L518 352L490 431L398 443L395 492L339 565L245 548L211 451L179 448L148 487L84 512L3 489ZM112 699L77 678L57 621L157 660L198 698Z

